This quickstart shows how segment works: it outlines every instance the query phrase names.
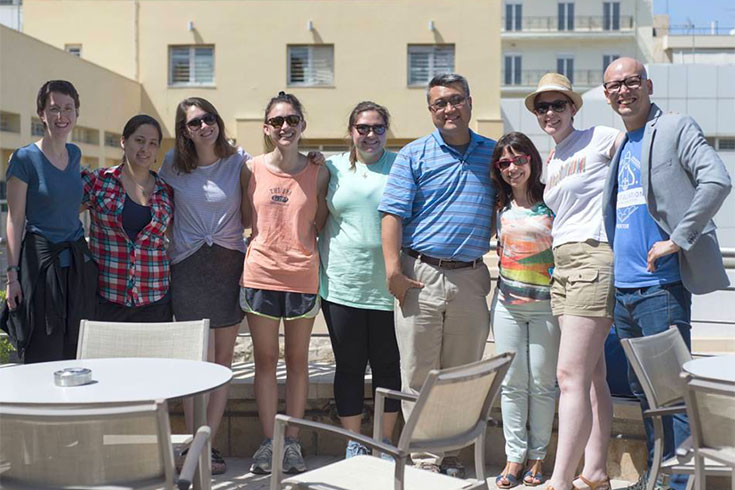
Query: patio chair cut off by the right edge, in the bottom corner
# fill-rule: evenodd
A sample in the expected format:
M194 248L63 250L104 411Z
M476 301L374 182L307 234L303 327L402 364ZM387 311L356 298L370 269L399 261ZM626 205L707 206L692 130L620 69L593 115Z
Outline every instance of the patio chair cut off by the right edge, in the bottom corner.
M694 452L694 485L704 490L707 461L727 468L735 490L735 383L705 380L683 373Z

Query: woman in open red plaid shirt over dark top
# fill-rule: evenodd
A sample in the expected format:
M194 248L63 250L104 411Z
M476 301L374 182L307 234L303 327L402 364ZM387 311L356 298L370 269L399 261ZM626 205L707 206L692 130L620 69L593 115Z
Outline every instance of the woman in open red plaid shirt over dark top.
M89 247L99 267L98 320L172 320L164 234L173 216L173 192L151 170L161 138L158 121L134 116L120 140L122 163L82 173Z

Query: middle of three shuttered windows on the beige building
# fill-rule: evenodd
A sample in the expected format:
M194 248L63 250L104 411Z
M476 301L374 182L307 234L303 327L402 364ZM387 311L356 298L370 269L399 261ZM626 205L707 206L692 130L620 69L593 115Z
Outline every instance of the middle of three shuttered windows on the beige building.
M334 46L289 46L288 84L334 85Z

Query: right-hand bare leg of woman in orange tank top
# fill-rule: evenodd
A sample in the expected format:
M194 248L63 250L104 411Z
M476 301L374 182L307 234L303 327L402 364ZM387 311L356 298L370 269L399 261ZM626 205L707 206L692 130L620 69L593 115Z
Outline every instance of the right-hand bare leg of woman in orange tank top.
M303 418L309 390L309 340L314 319L299 318L283 323L286 334L286 414ZM271 426L272 424L273 417ZM298 433L298 427L286 428L287 437L296 437Z

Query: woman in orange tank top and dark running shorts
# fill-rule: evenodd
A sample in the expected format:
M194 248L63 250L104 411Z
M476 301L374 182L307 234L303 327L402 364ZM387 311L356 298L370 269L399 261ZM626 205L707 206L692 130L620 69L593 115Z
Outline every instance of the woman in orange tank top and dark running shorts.
M304 129L301 103L291 94L279 93L265 111L263 132L269 153L247 162L252 235L240 283L240 306L247 313L253 340L255 399L265 435L250 468L259 474L271 471L279 324L283 320L286 336L286 413L303 417L309 339L319 312L316 237L327 218L329 171L299 153ZM286 430L286 473L306 471L297 436L298 428Z

